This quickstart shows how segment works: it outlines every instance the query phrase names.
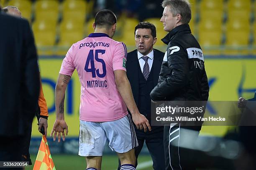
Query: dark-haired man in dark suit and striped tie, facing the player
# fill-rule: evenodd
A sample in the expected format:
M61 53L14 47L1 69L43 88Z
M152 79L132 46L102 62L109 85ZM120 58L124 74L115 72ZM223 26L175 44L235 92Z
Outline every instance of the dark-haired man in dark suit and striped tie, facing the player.
M164 52L153 49L156 43L156 27L148 22L138 23L134 30L137 50L129 52L126 61L126 74L131 83L133 97L141 114L151 122L150 92L157 85ZM154 170L164 169L163 126L152 126L151 132L135 129L138 147L135 155L141 152L144 141L153 160ZM136 161L136 166L137 166ZM119 166L120 167L120 166Z

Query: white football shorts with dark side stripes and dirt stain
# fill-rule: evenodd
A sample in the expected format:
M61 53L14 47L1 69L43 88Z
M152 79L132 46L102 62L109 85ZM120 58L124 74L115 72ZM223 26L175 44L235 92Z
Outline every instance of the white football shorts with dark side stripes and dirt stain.
M105 143L117 153L126 153L138 146L131 116L110 122L87 122L80 120L80 156L102 156Z

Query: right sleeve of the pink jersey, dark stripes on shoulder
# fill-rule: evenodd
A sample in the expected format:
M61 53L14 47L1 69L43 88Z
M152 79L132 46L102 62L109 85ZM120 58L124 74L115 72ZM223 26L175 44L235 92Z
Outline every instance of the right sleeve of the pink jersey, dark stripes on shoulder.
M114 49L113 70L126 71L127 48L123 42L118 43Z

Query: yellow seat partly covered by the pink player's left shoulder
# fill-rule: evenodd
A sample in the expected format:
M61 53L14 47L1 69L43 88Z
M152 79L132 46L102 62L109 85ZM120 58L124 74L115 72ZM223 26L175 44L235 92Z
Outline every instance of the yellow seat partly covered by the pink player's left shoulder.
M69 47L72 44L80 41L84 38L82 32L62 32L60 41L58 43L58 50L55 52L56 55L66 55Z

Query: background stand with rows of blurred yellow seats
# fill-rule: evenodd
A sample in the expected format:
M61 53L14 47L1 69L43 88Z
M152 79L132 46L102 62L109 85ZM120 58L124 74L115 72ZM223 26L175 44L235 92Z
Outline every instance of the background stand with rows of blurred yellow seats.
M256 0L190 0L190 3L192 20L189 25L204 54L230 55L238 51L238 54L256 54ZM1 4L3 7L17 6L23 18L31 21L38 49L48 49L44 46L67 49L94 31L94 20L90 18L95 15L92 10L95 0L1 0ZM167 32L159 20L147 18L144 21L156 26L158 40L155 47L161 48L164 47L161 38ZM138 22L136 18L118 16L117 32L113 38L125 42L128 49L132 49L135 45L134 27ZM42 36L47 33L49 40ZM52 53L39 51L39 54ZM60 51L56 53L65 53Z

